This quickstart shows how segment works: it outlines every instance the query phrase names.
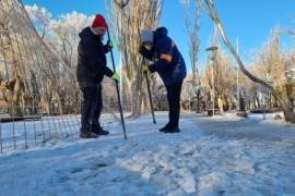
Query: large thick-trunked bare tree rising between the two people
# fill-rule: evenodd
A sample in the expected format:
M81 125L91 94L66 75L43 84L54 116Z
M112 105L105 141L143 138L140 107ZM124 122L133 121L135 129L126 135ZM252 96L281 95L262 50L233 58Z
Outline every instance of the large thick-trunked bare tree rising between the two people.
M131 94L131 115L138 118L142 111L145 111L144 108L149 102L146 101L149 96L144 90L144 75L141 71L142 57L138 50L139 29L153 30L157 27L164 0L106 0L105 2L107 10L113 12L108 13L111 21L110 29L117 49L122 56L120 66L122 66L123 79ZM122 2L126 2L126 5L120 16ZM109 3L113 4L109 5ZM120 20L122 20L121 23ZM142 102L142 100L145 101Z

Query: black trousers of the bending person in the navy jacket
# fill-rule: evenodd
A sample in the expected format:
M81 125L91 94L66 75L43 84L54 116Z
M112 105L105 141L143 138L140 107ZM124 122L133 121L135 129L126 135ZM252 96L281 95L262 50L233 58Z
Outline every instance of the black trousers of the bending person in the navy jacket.
M169 127L178 127L179 114L180 114L180 94L181 94L182 81L172 86L166 86L167 99L169 105Z

